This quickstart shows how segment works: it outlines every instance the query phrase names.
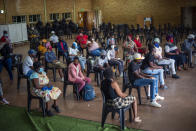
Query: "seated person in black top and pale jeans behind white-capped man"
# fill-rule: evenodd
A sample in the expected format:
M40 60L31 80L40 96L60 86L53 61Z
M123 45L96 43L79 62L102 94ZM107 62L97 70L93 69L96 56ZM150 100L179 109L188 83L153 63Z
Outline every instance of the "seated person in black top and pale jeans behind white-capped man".
M164 70L162 66L158 66L155 61L155 47L150 45L149 46L149 53L145 56L145 59L142 62L142 70L143 73L149 74L149 75L158 75L160 80L160 88L161 89L167 89L167 86L165 85L164 81Z

